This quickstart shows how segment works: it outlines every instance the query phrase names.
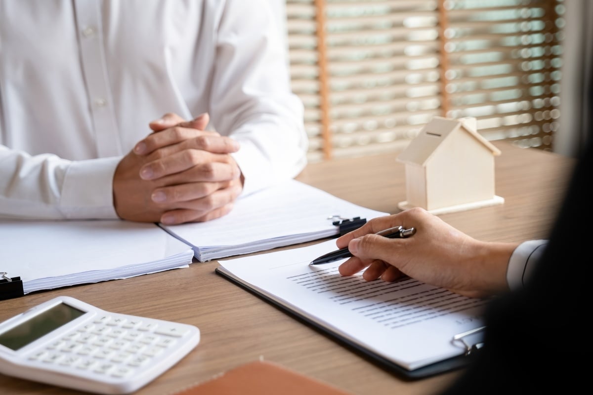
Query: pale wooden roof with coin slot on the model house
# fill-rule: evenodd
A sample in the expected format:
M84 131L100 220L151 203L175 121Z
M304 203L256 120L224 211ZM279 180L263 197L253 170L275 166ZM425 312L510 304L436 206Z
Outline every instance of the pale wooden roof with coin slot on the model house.
M500 150L477 132L476 118L460 118L455 120L444 117L433 117L432 120L420 130L420 133L418 133L416 138L408 144L406 149L400 153L397 160L404 163L425 165L426 161L430 159L435 152L436 147L458 129L461 129L474 137L479 143L489 149L490 152L492 152L492 155L500 155Z

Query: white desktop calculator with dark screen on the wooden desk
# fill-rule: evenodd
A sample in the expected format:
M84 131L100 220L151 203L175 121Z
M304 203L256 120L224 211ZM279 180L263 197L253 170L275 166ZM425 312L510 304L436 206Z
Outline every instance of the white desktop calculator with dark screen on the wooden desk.
M148 384L200 342L193 325L60 296L0 323L0 373L98 394Z

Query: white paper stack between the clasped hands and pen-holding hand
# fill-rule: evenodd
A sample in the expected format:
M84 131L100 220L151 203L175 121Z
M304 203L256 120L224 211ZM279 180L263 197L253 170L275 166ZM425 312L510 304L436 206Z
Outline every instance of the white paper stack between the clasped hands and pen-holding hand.
M388 213L342 200L295 181L240 198L227 216L203 223L160 226L193 246L204 262L338 235L341 219L370 220Z

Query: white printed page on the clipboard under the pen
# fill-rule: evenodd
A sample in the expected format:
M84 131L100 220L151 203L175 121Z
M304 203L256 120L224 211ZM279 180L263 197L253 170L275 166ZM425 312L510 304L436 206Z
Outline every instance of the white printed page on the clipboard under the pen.
M486 300L409 278L368 282L361 274L342 277L337 266L344 260L309 265L334 249L335 240L328 240L219 261L217 270L407 370L464 354L463 344L452 337L483 326Z

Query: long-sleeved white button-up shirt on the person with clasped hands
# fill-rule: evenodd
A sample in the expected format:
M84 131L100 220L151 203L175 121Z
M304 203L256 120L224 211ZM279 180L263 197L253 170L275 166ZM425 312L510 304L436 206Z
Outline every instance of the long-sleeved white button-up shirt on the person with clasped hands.
M306 163L270 0L0 2L0 217L109 219L117 163L165 113L240 143L243 194Z

